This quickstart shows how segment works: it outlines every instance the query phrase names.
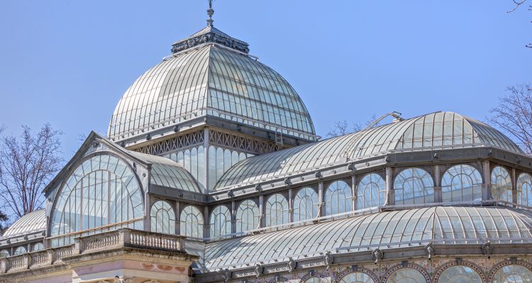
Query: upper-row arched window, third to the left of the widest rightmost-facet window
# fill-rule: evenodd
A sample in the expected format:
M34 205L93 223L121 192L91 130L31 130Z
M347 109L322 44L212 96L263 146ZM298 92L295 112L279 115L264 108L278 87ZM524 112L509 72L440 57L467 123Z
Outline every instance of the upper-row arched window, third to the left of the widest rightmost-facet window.
M325 192L325 215L350 212L351 203L351 188L348 183L336 181Z

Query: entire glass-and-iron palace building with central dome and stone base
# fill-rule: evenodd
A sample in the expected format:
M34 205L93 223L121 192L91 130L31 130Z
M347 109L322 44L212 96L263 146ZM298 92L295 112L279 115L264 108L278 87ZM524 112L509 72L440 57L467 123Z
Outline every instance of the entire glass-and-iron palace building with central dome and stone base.
M7 282L532 282L532 158L432 112L321 140L214 28L175 42L0 238Z

